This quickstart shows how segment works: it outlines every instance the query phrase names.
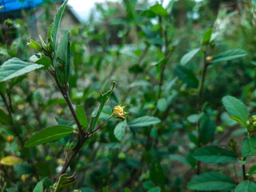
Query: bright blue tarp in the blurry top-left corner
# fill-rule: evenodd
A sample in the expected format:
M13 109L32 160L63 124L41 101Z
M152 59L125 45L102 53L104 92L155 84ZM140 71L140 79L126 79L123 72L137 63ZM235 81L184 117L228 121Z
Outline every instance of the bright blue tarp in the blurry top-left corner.
M14 10L24 10L46 2L45 0L0 0L0 6L5 6L0 13Z

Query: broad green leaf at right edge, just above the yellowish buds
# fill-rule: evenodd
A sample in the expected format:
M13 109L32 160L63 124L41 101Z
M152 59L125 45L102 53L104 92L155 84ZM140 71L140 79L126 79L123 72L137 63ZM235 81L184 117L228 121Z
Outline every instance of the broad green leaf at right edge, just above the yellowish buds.
M232 96L225 96L222 98L222 103L231 115L237 115L242 119L242 122L246 124L249 113L246 110L245 104Z

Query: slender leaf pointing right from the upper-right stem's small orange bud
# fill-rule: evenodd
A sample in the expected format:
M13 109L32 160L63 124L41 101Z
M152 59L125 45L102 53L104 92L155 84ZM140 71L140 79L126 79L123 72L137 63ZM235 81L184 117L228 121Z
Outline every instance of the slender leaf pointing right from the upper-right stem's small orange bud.
M218 54L215 56L212 60L211 63L215 62L226 62L229 60L232 60L234 58L241 58L246 56L247 52L245 50L226 50L222 52L221 54Z

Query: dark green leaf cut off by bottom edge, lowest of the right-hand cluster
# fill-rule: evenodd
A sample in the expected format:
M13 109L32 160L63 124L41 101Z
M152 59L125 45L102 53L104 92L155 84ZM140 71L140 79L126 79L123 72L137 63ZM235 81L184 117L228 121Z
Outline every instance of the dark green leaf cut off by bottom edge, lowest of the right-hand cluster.
M187 187L190 190L234 190L236 182L224 174L215 172L206 172L194 176L188 182Z

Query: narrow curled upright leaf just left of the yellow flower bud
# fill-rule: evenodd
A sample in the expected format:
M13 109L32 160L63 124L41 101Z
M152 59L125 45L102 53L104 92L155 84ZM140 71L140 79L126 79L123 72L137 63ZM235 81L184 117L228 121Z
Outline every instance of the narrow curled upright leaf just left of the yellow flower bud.
M99 101L101 102L99 108L98 108L98 113L96 116L94 116L90 122L90 131L94 130L94 127L96 126L96 122L98 121L99 115L102 113L103 106L105 106L106 101L108 98L110 98L110 94L112 94L114 87L117 85L116 82L112 82L112 88L111 90L108 90L105 94L102 94L101 97L99 98Z

